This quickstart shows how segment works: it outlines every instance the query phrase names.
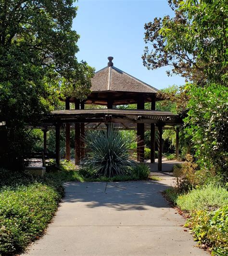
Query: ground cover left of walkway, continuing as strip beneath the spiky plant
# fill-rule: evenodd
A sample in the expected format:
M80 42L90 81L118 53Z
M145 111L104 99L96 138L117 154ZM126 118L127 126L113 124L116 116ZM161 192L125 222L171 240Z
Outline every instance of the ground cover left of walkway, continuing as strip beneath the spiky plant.
M63 197L64 181L160 180L149 177L150 168L142 163L136 163L127 175L113 177L87 177L74 168L70 162L57 166L51 160L44 177L0 169L0 254L19 253L42 235Z

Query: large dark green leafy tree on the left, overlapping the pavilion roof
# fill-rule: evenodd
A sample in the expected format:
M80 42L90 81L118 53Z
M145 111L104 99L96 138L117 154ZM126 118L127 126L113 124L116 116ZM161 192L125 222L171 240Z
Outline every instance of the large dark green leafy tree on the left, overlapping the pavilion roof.
M25 125L36 125L58 98L89 93L94 70L76 59L76 10L73 0L0 2L0 109L11 156L26 148Z

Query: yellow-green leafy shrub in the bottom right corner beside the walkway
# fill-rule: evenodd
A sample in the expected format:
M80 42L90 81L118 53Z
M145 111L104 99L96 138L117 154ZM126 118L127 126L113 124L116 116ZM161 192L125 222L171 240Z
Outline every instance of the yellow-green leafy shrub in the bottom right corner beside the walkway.
M194 232L198 243L212 248L212 255L227 255L228 252L228 206L216 211L196 211L186 224Z

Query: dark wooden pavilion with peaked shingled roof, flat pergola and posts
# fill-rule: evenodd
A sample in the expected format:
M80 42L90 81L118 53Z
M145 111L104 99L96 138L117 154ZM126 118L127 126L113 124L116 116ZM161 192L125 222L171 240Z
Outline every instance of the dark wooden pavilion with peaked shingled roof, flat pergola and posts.
M155 129L158 130L158 170L162 171L162 130L182 124L182 119L167 111L156 111L155 102L158 90L113 66L113 57L108 57L108 66L97 71L91 80L91 93L84 101L68 97L65 110L52 111L42 120L44 131L44 151L47 128L55 126L56 162L60 163L60 128L65 126L65 158L70 160L70 129L75 129L75 163L85 157L81 136L85 130L103 130L114 125L116 129L137 130L137 160L144 162L144 131L151 131L151 162L154 162ZM151 110L145 110L146 102L151 103ZM70 110L70 103L75 109ZM85 109L85 104L103 105L107 108ZM119 109L117 105L137 104L137 109ZM107 129L107 128L106 128ZM108 131L108 130L107 130ZM178 155L178 127L176 154Z

